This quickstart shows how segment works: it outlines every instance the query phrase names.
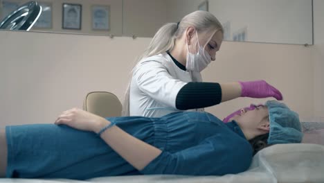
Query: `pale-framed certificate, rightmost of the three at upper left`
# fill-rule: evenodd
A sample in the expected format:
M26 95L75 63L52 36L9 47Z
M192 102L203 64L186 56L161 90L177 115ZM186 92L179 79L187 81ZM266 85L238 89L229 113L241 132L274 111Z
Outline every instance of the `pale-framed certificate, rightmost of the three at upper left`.
M110 29L110 6L94 5L91 7L92 29L109 30Z

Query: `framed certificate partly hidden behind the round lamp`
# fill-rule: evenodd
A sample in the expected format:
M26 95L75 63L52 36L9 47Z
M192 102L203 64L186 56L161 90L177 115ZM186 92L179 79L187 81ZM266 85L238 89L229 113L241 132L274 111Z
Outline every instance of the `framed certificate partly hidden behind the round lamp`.
M33 28L52 28L52 4L39 2L42 6L42 14L37 19Z

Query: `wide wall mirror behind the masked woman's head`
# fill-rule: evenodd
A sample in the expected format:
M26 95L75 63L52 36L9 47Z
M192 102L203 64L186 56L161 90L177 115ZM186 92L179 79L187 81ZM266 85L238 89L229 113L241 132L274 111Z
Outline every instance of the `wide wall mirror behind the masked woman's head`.
M0 16L29 0L0 0ZM312 0L41 0L50 28L33 30L95 35L153 37L166 22L208 9L221 21L225 40L312 44ZM81 29L62 28L62 4L82 6ZM2 5L2 8L1 8ZM93 6L107 9L108 30L93 30ZM2 13L1 13L2 12ZM1 17L0 17L1 19ZM42 17L41 17L42 19Z

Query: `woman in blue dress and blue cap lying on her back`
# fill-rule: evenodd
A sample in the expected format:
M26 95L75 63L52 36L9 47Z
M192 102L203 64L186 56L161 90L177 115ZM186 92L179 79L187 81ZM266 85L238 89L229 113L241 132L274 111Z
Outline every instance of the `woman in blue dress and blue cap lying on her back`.
M300 143L302 137L298 114L277 101L243 108L224 121L206 112L104 119L72 109L55 124L1 130L0 175L225 175L246 171L265 146Z

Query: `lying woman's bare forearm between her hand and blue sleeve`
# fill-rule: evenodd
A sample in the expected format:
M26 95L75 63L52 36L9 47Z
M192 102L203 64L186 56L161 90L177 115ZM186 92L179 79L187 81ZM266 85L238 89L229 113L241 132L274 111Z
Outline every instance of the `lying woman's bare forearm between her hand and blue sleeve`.
M109 123L110 121L102 119L102 121L97 123L94 131L98 133ZM136 139L116 125L105 130L105 132L101 134L101 138L113 148L116 153L129 162L129 164L132 164L132 166L138 169L138 171L141 171L147 164L161 154L159 148Z

